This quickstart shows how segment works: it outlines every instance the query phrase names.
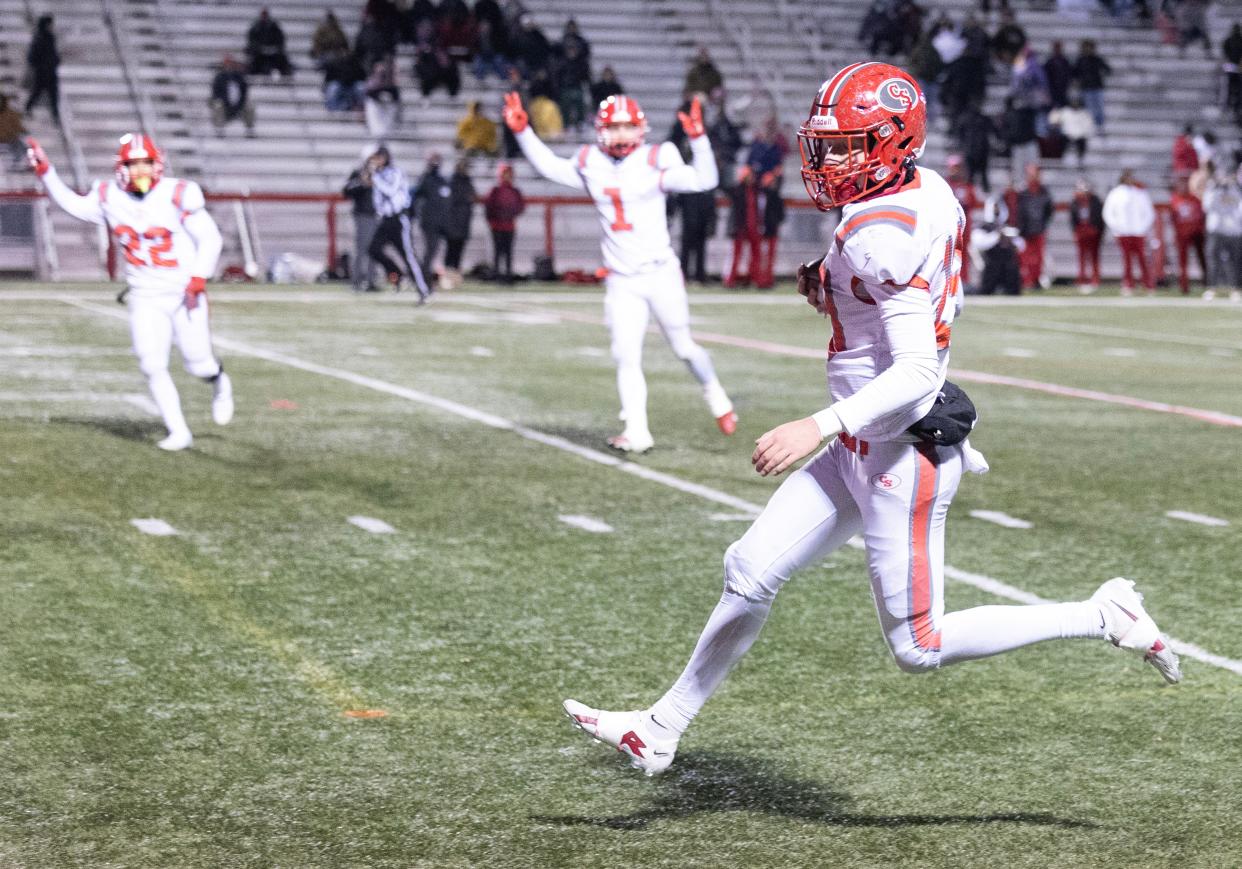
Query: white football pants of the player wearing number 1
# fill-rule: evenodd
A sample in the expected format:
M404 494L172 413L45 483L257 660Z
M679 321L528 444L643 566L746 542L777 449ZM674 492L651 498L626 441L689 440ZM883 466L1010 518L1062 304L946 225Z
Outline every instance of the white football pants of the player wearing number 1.
M657 271L645 274L610 274L605 286L604 317L612 338L626 433L651 436L647 427L647 380L642 374L642 341L651 315L664 333L673 355L686 362L703 386L712 415L728 413L733 405L715 377L712 356L691 336L691 308L677 261L669 259Z

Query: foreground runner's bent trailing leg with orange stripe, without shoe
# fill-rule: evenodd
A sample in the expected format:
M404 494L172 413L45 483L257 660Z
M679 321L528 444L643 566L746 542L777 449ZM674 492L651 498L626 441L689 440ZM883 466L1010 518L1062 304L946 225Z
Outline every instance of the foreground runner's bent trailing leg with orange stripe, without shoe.
M963 472L961 447L869 444L851 490L863 510L881 627L909 673L986 658L1043 639L1103 637L1090 602L982 606L944 612L944 524Z

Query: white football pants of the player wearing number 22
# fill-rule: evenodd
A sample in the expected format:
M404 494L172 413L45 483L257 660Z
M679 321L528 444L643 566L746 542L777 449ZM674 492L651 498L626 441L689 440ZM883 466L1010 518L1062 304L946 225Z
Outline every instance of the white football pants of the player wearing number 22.
M220 374L220 361L211 350L207 298L199 295L194 310L186 310L184 298L171 293L154 298L130 294L128 302L134 355L138 367L147 375L152 398L169 433L189 431L168 361L175 340L186 371L204 379Z

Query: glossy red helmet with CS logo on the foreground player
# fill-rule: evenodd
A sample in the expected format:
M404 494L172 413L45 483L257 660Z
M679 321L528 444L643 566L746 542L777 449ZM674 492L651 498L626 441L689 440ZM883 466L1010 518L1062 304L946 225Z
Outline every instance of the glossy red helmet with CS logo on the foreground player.
M820 86L797 130L802 181L821 211L874 195L923 154L927 104L888 63L852 63Z

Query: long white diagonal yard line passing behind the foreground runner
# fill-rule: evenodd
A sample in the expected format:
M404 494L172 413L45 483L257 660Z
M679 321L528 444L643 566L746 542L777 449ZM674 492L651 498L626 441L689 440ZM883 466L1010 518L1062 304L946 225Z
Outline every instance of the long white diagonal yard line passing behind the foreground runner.
M103 305L97 305L92 303L82 303L77 300L65 300L67 304L82 308L83 310L89 310L99 314L106 314L108 317L125 319L125 315L119 312L114 312L111 308L104 308ZM263 359L270 362L278 365L286 365L288 367L298 369L301 371L307 371L309 374L318 374L325 377L333 377L335 380L343 380L348 384L354 384L355 386L363 386L365 389L374 390L376 392L384 392L386 395L395 395L416 403L426 405L427 407L435 407L437 410L445 411L460 416L462 418L469 420L472 422L478 422L492 428L498 428L502 431L509 431L519 437L528 441L534 441L537 443L543 443L549 447L555 447L564 452L584 458L589 462L595 462L596 464L607 466L615 468L623 473L640 477L642 479L650 480L652 483L658 483L661 485L676 489L677 492L684 492L686 494L696 495L703 500L713 502L715 504L724 504L735 510L743 510L751 513L753 515L759 515L763 508L759 504L754 504L743 498L737 498L719 489L713 489L708 485L700 485L698 483L692 483L689 480L683 480L679 477L672 474L666 474L660 471L653 471L651 468L645 468L635 462L622 461L615 456L609 456L601 453L597 449L591 449L590 447L582 447L571 441L566 441L563 437L555 434L544 434L543 432L535 431L533 428L527 428L525 426L519 426L515 422L505 420L504 417L496 416L494 413L488 413L487 411L481 411L467 405L461 405L456 401L448 401L447 398L440 398L438 396L428 395L426 392L420 392L417 390L411 390L405 386L397 386L396 384L390 384L376 377L368 377L365 375L355 374L353 371L345 371L343 369L330 367L328 365L319 365L318 362L310 362L296 356L289 356L287 354L276 353L273 350L265 350L262 348L255 348L242 341L236 341L227 338L216 338L216 344L235 350L255 359ZM818 354L816 354L818 355ZM859 544L861 545L861 541ZM1018 601L1020 603L1052 603L1037 595L1022 591L1015 586L1001 582L1000 580L994 580L990 576L982 576L979 574L970 574L964 570L959 570L951 565L944 566L944 575L958 582L974 586L989 593L996 595L997 597L1007 597L1011 601ZM1222 669L1242 675L1242 660L1235 660L1232 658L1225 658L1222 655L1207 652L1200 646L1194 643L1187 643L1181 639L1169 638L1169 643L1177 654L1201 660L1206 664L1212 664L1213 667L1220 667Z

